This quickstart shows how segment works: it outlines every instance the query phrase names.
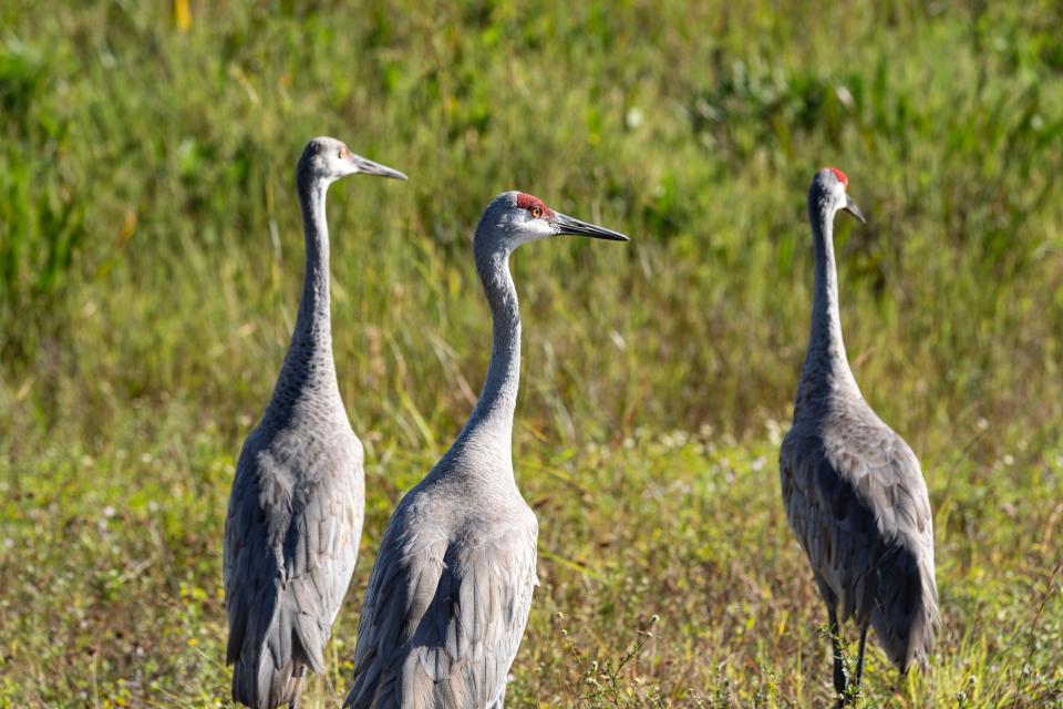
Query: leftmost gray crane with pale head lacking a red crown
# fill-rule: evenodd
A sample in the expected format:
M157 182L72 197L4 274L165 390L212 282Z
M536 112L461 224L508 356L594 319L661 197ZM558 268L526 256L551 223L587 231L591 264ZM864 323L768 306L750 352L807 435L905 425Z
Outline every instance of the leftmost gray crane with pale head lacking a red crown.
M406 178L331 137L310 141L299 160L302 300L272 399L244 442L229 496L226 661L235 664L233 698L255 709L297 707L306 667L324 671L324 645L358 557L362 444L332 361L324 210L329 185L357 174Z

